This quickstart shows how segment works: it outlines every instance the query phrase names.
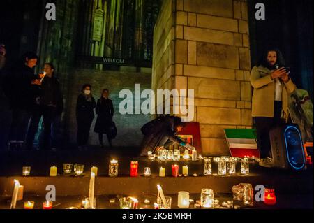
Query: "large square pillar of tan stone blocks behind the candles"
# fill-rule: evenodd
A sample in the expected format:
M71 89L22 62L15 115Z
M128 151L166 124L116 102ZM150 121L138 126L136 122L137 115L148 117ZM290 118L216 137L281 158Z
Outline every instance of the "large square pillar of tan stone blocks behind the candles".
M229 154L223 129L252 125L246 0L165 0L154 31L153 89L194 89L203 154Z

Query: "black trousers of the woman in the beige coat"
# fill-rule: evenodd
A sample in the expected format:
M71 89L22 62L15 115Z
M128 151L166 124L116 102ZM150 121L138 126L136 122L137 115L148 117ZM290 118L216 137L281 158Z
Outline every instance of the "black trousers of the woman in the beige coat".
M274 103L274 117L255 117L255 128L257 133L257 148L260 150L260 158L271 157L271 144L269 140L269 130L280 124L281 110L283 104L281 101Z

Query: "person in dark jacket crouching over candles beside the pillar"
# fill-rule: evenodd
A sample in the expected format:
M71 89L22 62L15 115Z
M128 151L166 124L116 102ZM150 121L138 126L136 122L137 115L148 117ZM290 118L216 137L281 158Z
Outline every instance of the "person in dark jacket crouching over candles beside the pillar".
M192 149L193 147L184 143L176 133L181 131L185 126L184 122L181 122L180 117L166 115L165 117L158 117L155 120L144 124L142 127L142 133L144 138L142 140L140 156L147 156L148 151L153 153L159 147L167 148L174 143L185 146Z

